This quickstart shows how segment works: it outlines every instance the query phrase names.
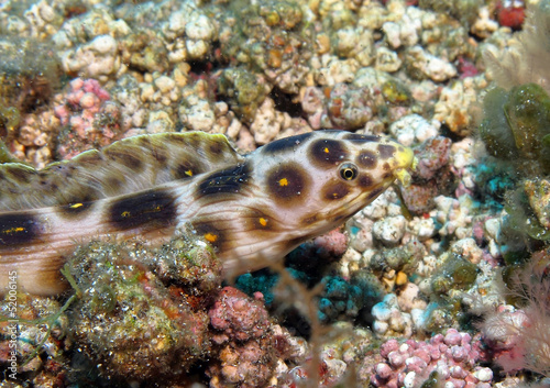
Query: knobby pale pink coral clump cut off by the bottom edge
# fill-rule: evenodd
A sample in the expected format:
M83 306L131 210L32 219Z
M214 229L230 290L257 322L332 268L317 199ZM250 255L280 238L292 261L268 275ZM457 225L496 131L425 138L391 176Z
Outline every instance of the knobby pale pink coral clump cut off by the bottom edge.
M454 329L426 342L389 340L381 347L384 361L375 365L371 383L387 388L417 386L436 372L446 387L491 387L491 369L476 366L479 348L479 340Z

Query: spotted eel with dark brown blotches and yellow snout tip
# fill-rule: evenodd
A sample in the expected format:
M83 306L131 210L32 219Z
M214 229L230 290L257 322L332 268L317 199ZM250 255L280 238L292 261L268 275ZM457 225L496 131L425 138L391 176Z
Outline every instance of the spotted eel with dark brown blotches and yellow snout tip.
M0 293L55 295L76 244L108 236L166 242L191 225L224 268L280 258L407 184L413 151L391 140L317 131L241 156L222 135L143 135L43 170L0 166Z

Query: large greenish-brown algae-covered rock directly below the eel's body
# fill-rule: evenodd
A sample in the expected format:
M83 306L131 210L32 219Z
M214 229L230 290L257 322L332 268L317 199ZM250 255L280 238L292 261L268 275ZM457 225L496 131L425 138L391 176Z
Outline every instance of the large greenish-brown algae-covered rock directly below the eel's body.
M75 340L111 377L185 376L210 350L207 307L221 265L204 243L176 236L157 250L110 242L79 247Z

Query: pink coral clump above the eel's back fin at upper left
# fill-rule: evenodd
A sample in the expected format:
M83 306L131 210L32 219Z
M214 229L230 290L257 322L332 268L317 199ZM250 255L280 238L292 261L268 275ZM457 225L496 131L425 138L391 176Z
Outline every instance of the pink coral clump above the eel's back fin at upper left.
M54 110L65 131L57 153L63 158L89 148L101 147L121 136L120 107L95 79L76 78L63 104Z

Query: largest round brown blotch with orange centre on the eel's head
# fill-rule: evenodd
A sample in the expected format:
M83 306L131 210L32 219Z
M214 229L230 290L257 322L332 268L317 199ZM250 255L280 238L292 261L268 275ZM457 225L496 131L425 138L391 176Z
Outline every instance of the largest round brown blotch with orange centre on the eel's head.
M279 203L301 202L308 195L309 177L296 163L278 166L267 174L267 189Z

